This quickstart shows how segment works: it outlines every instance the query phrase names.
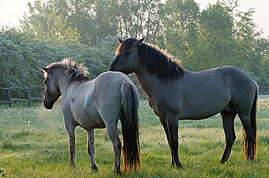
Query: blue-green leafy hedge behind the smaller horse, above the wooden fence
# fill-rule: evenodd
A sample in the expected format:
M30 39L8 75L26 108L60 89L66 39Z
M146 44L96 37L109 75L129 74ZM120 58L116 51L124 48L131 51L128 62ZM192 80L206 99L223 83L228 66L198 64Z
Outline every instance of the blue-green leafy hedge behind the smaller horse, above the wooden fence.
M96 46L80 43L59 43L58 41L38 41L24 33L9 29L0 34L0 86L40 85L43 80L38 66L70 57L83 62L88 67L90 77L107 71L115 57L118 46L116 37L107 36L100 39Z

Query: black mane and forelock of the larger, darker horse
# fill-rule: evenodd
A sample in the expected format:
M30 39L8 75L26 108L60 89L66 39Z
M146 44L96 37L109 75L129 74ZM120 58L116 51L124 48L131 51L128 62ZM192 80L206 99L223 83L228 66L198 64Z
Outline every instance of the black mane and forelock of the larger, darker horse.
M131 47L136 40L134 38L125 40L117 52ZM138 47L138 55L141 65L145 66L150 74L158 76L160 79L171 80L184 75L185 70L176 62L176 59L166 50L157 46L142 43Z

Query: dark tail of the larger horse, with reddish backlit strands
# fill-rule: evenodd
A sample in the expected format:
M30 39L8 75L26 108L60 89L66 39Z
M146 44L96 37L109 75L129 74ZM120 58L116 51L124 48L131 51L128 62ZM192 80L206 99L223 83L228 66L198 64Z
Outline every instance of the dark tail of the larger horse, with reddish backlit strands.
M255 159L257 155L257 99L258 99L258 86L256 85L256 93L255 98L252 104L252 108L250 111L250 127L253 134L253 158L248 159ZM246 132L243 128L243 145L245 145L245 159L247 159L247 152L248 152L248 141L246 137Z

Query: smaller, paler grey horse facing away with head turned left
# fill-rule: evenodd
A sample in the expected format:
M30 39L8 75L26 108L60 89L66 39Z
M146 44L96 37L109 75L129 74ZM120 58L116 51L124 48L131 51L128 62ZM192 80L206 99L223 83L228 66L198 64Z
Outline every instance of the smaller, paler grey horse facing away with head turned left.
M44 107L51 109L62 96L64 126L69 137L70 167L75 168L75 127L86 130L87 150L93 171L98 170L94 156L95 129L106 127L115 154L114 172L120 175L121 141L117 131L120 120L123 171L129 172L133 166L140 170L139 97L130 78L121 72L104 72L91 80L87 76L87 68L69 58L39 69L45 77Z

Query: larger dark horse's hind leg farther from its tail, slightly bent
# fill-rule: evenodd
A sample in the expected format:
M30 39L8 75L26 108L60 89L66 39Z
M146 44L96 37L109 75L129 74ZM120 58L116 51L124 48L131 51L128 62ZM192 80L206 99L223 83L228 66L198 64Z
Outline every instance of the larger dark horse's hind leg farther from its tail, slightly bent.
M225 133L225 149L220 164L224 164L229 159L232 145L236 138L233 126L236 114L224 114L223 112L221 112L221 116L222 116L222 125Z

